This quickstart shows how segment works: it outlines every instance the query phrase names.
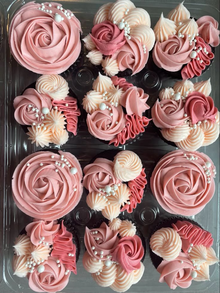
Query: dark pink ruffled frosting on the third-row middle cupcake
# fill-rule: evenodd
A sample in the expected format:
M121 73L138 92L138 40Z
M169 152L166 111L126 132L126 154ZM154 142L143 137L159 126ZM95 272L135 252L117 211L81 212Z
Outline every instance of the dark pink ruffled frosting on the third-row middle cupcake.
M144 188L147 184L146 174L144 170L145 168L142 169L139 176L137 176L134 180L128 182L128 186L130 187L129 192L131 194L129 196L130 205L124 205L124 207L122 207L121 209L121 212L127 210L128 213L132 213L137 204L141 202L141 199L143 198Z

